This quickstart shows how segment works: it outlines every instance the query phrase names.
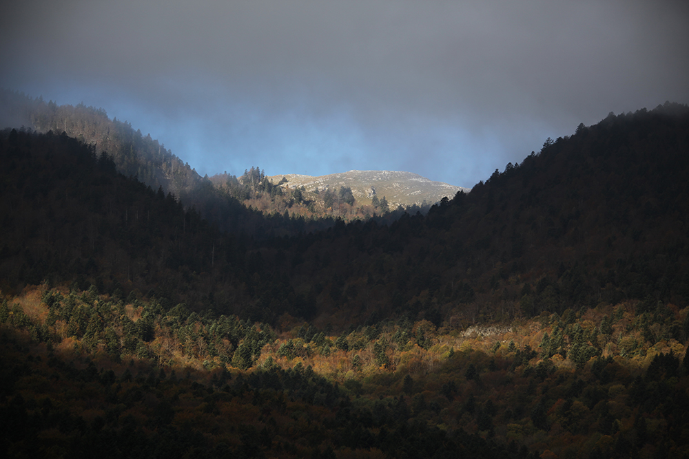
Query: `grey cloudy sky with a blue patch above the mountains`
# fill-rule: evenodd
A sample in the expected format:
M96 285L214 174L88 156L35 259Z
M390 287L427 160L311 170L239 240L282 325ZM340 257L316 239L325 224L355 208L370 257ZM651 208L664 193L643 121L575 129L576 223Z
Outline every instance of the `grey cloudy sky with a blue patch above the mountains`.
M688 4L15 1L0 86L102 107L201 175L471 187L579 122L689 103Z

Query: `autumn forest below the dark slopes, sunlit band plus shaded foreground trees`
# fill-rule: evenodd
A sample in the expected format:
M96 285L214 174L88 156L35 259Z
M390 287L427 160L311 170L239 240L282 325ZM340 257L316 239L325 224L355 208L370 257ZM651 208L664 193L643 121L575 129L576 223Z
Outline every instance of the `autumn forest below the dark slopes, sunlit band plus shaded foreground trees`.
M37 286L0 306L0 431L12 456L162 441L173 457L681 457L688 312L630 301L333 333Z

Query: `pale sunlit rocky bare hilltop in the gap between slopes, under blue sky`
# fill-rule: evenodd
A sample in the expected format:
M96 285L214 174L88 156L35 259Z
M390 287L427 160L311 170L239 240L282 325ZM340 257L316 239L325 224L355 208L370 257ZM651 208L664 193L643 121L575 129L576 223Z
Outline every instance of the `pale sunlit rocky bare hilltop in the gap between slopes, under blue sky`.
M285 178L287 182L282 180ZM311 175L283 174L272 175L268 179L274 184L282 183L288 189L301 188L306 191L337 191L341 186L349 186L354 198L362 204L371 204L373 197L386 198L391 209L397 206L408 207L434 204L442 198L453 198L458 191L469 192L443 182L433 182L421 175L399 171L349 171L313 177Z

